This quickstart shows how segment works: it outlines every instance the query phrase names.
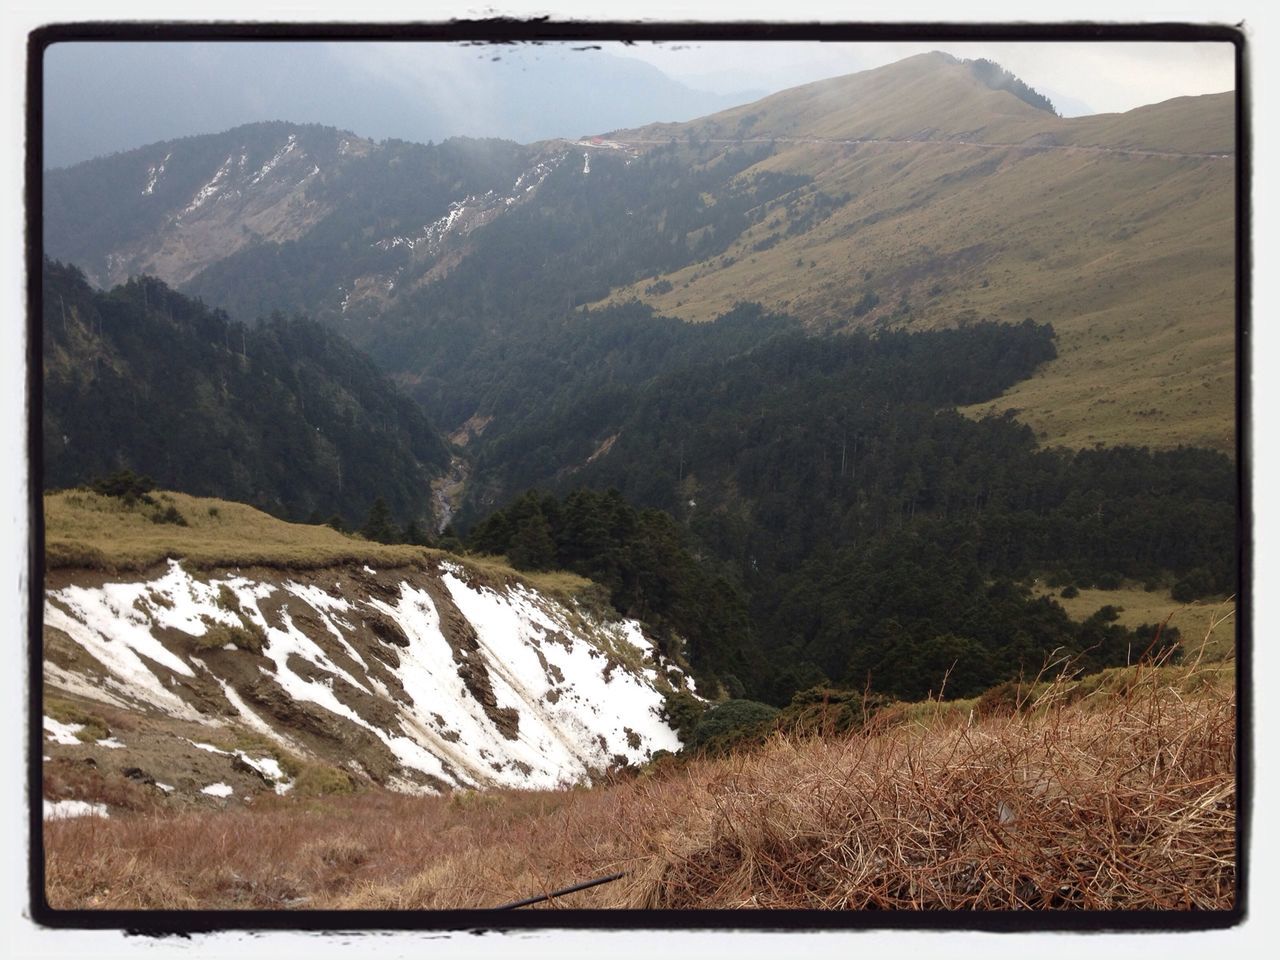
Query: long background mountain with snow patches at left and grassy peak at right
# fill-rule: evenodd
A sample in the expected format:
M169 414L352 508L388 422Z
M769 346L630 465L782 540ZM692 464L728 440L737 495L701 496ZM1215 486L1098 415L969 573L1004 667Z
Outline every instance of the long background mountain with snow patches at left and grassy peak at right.
M813 332L1050 323L1056 360L972 415L1073 448L1233 451L1233 124L1230 93L1062 119L995 65L927 54L572 142L275 124L155 145L51 173L46 248L237 319L303 310L448 430L489 416L480 353L575 308L754 301Z

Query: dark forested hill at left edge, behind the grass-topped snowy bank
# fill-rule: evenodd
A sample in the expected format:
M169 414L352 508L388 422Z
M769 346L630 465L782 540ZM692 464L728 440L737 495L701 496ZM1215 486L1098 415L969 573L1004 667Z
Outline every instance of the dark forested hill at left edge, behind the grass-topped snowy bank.
M151 278L97 292L50 261L44 307L47 488L133 470L294 518L358 522L381 497L430 521L444 440L332 330L250 328Z

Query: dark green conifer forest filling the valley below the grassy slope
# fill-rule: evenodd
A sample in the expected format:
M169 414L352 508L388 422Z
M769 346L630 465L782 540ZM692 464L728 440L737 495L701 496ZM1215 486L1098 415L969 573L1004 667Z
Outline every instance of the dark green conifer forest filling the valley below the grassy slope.
M590 343L591 324L625 329L636 311L613 312L589 314L566 338ZM744 328L772 335L736 355L707 349L719 329ZM595 378L580 390L562 385L539 416L472 440L486 484L476 498L548 493L489 516L467 543L599 579L632 616L652 596L685 598L672 628L733 695L783 704L815 684L869 684L916 698L950 673L947 689L966 696L1034 673L1055 650L1108 666L1155 639L1155 625L1123 628L1114 611L1070 621L1033 598L1034 576L1075 588L1128 579L1188 598L1235 590L1226 457L1046 451L1011 417L955 412L1052 358L1046 326L812 338L744 308L704 328L646 329L676 343L698 332L703 349L655 349L668 365L649 371L596 353L581 362ZM572 356L568 343L544 348ZM531 383L545 364L531 353ZM636 552L635 518L617 520L625 502L663 511L646 522L690 544L700 566ZM484 512L474 502L463 522ZM716 603L701 599L709 573L722 584Z

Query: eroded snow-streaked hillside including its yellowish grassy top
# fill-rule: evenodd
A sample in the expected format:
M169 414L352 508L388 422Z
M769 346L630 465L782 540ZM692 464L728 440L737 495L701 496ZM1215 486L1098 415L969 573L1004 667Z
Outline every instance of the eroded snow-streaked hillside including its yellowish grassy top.
M567 787L680 748L664 696L691 682L636 621L493 563L156 498L189 517L160 549L187 556L133 570L128 545L159 544L150 508L46 497L55 763L96 756L100 778L239 805L293 788ZM218 549L223 562L201 561Z

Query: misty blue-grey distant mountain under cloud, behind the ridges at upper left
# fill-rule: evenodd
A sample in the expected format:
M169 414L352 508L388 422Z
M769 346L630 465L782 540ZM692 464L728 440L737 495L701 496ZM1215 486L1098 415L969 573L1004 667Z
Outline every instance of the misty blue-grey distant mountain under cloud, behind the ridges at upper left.
M753 96L563 45L58 44L45 56L45 165L279 119L372 140L530 142L689 120Z

